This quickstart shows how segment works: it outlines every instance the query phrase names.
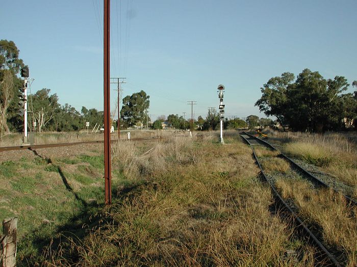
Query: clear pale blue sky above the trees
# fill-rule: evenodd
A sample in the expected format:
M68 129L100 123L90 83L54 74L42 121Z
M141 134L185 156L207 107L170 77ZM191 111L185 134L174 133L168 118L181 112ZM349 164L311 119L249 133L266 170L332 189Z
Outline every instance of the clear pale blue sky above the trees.
M225 116L265 117L254 103L271 77L308 68L357 80L356 10L355 0L111 0L110 76L126 78L123 97L150 96L152 120L190 117L188 101L205 118L219 84ZM62 105L103 110L103 0L2 0L0 20L33 94L49 88Z

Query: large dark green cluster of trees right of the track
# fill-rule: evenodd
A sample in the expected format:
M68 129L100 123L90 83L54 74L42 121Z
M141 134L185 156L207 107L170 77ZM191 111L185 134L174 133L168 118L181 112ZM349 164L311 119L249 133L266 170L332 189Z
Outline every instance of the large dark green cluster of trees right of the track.
M347 79L324 79L319 72L304 69L296 78L290 72L272 77L261 87L256 106L267 116L275 116L285 129L322 132L356 128L357 91L348 89ZM357 87L357 81L352 82Z

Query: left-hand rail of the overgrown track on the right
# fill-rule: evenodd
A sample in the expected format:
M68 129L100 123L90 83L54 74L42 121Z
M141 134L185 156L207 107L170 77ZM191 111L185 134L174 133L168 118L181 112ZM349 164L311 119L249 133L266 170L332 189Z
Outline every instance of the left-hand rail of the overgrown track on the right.
M244 134L246 134L244 132ZM246 134L248 136L251 136L249 134ZM331 254L326 248L325 246L316 238L316 236L313 234L313 232L302 222L302 220L297 216L297 214L291 209L291 207L285 202L285 200L283 199L283 197L277 192L275 186L268 180L267 176L265 175L263 168L258 160L258 157L256 155L256 152L253 149L253 146L251 145L251 143L244 137L242 136L242 134L240 133L240 136L250 145L251 150L253 152L253 156L254 159L256 160L260 171L264 177L264 180L266 183L269 184L271 190L273 191L273 194L275 196L275 199L277 199L281 204L283 204L283 206L285 207L286 210L288 210L291 215L293 216L294 220L297 221L297 226L301 227L301 229L304 231L305 234L307 234L309 236L309 238L312 239L312 242L319 247L319 249L321 249L321 251L328 257L328 259L331 261L331 263L335 264L338 267L343 267L344 265L342 265L340 262L337 261L337 259L335 258L335 256L333 254ZM255 136L254 136L255 137ZM310 239L309 239L310 240Z

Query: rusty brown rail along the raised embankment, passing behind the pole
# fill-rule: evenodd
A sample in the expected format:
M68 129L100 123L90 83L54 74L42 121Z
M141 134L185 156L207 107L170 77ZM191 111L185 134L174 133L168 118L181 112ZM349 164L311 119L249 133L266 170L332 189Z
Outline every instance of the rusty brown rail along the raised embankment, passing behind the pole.
M131 139L112 139L111 143L117 141L143 141L143 140L155 140L173 137L188 137L189 135L173 135L173 136L161 136L161 137L142 137L142 138L131 138ZM57 144L34 144L34 145L19 145L19 146L3 146L0 147L0 152L13 151L13 150L34 150L34 149L47 149L49 147L58 146L70 146L79 144L91 144L91 143L104 143L104 140L97 141L83 141L83 142L72 142L72 143L57 143Z

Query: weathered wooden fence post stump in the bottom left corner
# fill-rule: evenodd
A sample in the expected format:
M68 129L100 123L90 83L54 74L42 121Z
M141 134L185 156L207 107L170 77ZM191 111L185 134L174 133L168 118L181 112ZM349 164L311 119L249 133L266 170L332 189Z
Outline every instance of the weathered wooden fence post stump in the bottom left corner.
M17 218L3 220L3 236L0 236L0 266L16 266Z

